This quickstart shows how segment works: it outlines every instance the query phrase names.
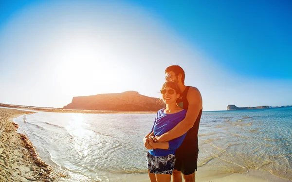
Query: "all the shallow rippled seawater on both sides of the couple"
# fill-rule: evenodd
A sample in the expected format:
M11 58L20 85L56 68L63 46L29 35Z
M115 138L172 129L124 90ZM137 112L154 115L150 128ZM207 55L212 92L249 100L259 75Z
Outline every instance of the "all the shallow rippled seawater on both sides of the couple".
M45 162L88 179L146 173L142 138L155 114L37 112L15 119ZM292 180L292 108L203 112L198 166ZM199 169L200 170L200 169Z

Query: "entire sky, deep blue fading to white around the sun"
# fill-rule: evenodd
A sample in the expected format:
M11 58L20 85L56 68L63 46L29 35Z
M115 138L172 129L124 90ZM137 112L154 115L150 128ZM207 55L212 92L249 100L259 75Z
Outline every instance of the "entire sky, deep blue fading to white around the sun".
M205 110L291 105L291 9L289 0L1 0L0 103L160 97L164 69L178 64Z

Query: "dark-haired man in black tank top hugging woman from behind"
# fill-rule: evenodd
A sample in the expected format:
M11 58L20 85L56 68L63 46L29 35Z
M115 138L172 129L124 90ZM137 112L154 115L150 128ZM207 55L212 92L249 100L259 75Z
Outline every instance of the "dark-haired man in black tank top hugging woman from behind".
M184 85L184 71L178 65L172 65L165 69L165 80L176 82L182 92L177 104L187 109L185 119L176 127L161 136L151 136L144 140L144 145L149 147L149 141L167 142L178 138L187 132L182 145L175 153L176 162L172 175L172 182L195 182L195 171L198 160L198 130L202 113L202 98L200 91L195 87ZM153 133L152 133L153 134ZM182 179L183 174L183 179Z

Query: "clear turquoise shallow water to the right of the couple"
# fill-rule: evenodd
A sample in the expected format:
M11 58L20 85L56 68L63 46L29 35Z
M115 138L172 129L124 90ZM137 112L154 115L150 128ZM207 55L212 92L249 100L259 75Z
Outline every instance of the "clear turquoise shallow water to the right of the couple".
M200 127L200 165L292 180L292 108L205 112Z

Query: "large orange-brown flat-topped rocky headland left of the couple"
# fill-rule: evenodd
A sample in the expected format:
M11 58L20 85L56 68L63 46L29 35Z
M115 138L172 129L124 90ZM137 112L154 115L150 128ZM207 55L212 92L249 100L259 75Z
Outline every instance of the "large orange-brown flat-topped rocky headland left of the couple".
M73 97L64 109L158 111L164 107L162 99L141 95L137 91L125 91Z

